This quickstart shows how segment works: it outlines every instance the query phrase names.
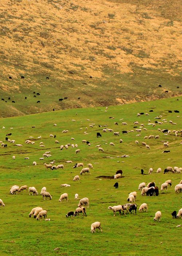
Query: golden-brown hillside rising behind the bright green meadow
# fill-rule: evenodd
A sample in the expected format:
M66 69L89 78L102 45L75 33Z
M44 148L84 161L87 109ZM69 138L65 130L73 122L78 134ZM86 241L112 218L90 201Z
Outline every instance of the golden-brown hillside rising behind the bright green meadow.
M180 2L2 1L1 116L181 95Z

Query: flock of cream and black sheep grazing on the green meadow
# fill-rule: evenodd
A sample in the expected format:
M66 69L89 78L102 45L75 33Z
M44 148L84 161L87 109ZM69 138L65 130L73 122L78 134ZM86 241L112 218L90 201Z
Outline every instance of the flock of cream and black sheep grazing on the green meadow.
M106 108L105 112L107 112L108 108ZM137 117L140 117L141 116L141 113L138 113L137 114ZM149 116L149 114L146 113L146 116ZM159 116L159 117L156 117L155 119L161 119L162 116ZM111 117L111 119L114 119L114 117ZM72 120L72 121L75 121L75 120ZM89 119L87 121L90 121ZM120 121L122 121L122 119L120 119ZM169 125L175 125L176 123L173 123L171 120L168 122L166 119L162 119L162 122L159 122L159 121L155 121L154 123L151 123L150 120L148 120L148 124L147 125L152 125L153 127L155 127L155 125L161 125L162 123L166 123L166 124L169 124ZM115 125L118 125L118 123L114 123ZM145 132L147 131L147 128L145 127L144 124L140 124L139 121L134 121L133 122L134 125L139 125L139 128L135 129L134 130L129 130L129 131L123 131L122 133L123 134L127 134L127 133L130 133L130 132L136 132L136 136L137 137L140 137L142 132ZM122 122L121 125L123 125L124 127L126 127L128 124L126 122ZM54 126L56 126L56 124L54 124ZM110 128L107 128L107 125L103 125L104 126L104 129L102 129L102 132L103 133L111 133L113 134L113 136L120 136L120 132L117 131L117 132L114 132L113 129L110 129ZM95 127L95 124L92 123L89 125L90 129L94 128ZM101 127L101 125L99 125L99 127ZM34 127L32 127L34 128ZM83 128L80 128L80 130L82 130ZM88 128L86 127L86 132L84 132L84 135L88 135ZM101 130L100 130L101 131ZM68 133L69 131L68 130L63 130L62 133ZM180 130L168 130L168 129L163 129L161 130L160 128L157 129L157 132L162 132L162 133L165 133L166 135L169 135L169 134L173 134L175 135L175 137L179 136L179 133L181 133L182 131ZM101 137L102 135L100 133L97 133L97 137ZM43 135L40 135L37 137L37 139L42 139L43 138ZM56 138L56 135L53 135L53 134L50 134L50 138ZM144 140L148 140L148 141L152 141L153 139L155 140L159 140L160 138L160 135L149 135L149 136L145 136L144 137ZM75 139L74 138L71 138L72 141L74 141ZM8 138L6 138L6 141L7 143L12 143L12 144L15 144L15 140L10 140ZM124 143L124 138L122 139L119 139L118 140L118 143ZM4 142L1 141L1 147L4 147ZM37 142L34 141L34 138L32 136L29 136L29 139L28 140L25 140L25 144L30 144L30 145L35 145ZM59 144L59 140L55 140L55 144ZM92 143L88 142L87 140L82 140L82 144L87 144L88 147L90 147L92 145ZM105 145L107 143L104 143ZM98 144L96 145L95 147L98 148L98 151L99 153L104 153L105 152L105 149L103 148L104 147L104 144L103 146L101 144ZM135 140L134 144L136 145L139 145L139 141L138 140ZM152 144L152 143L151 143ZM108 144L109 146L111 147L114 147L115 146L115 143L113 142L110 142ZM145 143L145 142L141 142L141 145L144 146L146 149L150 150L151 146L152 145L148 145L148 143ZM8 144L9 146L9 144ZM21 146L23 147L23 144L15 144L15 146ZM43 142L40 142L39 143L39 146L41 148L45 147L44 143ZM102 147L101 147L102 146ZM163 142L163 147L170 147L170 143L168 141L166 142ZM78 154L80 153L80 149L78 149L78 144L71 144L71 143L67 143L66 145L61 145L60 146L60 150L69 150L69 148L76 148L75 150L75 154ZM51 151L46 151L45 153L42 154L42 157L39 158L39 161L45 161L45 159L47 158L50 158L52 157L52 155L50 154ZM120 157L130 157L129 155L121 155ZM16 160L16 156L13 155L12 156L12 159L13 160ZM29 159L29 157L25 157L24 159ZM72 163L71 160L68 160L66 161L66 163ZM39 163L40 164L40 163ZM33 166L36 166L37 165L37 162L36 161L33 161L32 163ZM64 164L61 163L61 164L58 164L58 165L55 165L55 160L52 160L51 162L49 163L43 163L44 167L48 170L58 170L58 169L64 169ZM80 171L80 175L84 175L84 174L90 174L90 169L92 168L93 169L93 166L91 163L88 163L87 164L88 167L84 167L84 164L83 163L76 163L73 168L76 168L76 170L79 168L79 167L83 167L82 170ZM161 173L161 168L158 168L157 169L157 172L156 173ZM175 166L174 168L173 167L166 167L166 169L164 170L164 173L182 173L182 168L181 167L177 167ZM149 169L149 174L152 174L153 173L153 168L150 168ZM117 173L114 175L114 179L118 179L118 178L121 178L122 177L122 171ZM79 175L75 175L73 177L73 181L78 181L79 182L80 180L80 177ZM168 186L171 186L172 185L172 181L171 180L167 180L165 181L162 185L161 185L161 191L163 191L164 189L167 190ZM61 184L60 185L61 187L70 187L69 184L65 183L65 184ZM141 191L141 195L142 196L158 196L159 195L159 189L158 187L155 185L155 182L149 182L149 184L146 186L145 182L142 182L141 184L139 184L139 187L138 187L139 191ZM29 195L38 195L38 192L36 190L35 187L29 187L27 185L23 185L21 187L19 187L18 185L13 185L10 189L10 193L13 195L13 194L17 194L21 191L28 191L29 192ZM179 184L175 185L175 188L174 188L175 192L176 193L180 193L182 192L182 180L179 182ZM40 192L40 195L43 196L43 200L45 199L52 199L52 196L49 192L46 191L46 187L43 187L41 189L41 192ZM129 203L126 203L126 204L123 204L123 205L117 205L117 206L109 206L108 207L108 210L112 210L114 212L114 216L116 214L116 212L119 212L119 214L121 214L123 212L124 215L126 215L126 213L135 213L137 212L137 204L135 203L135 200L137 198L137 192L134 191L134 192L131 192L127 198L127 202ZM78 193L75 194L75 199L79 199L79 195ZM63 202L64 200L66 200L66 202L68 202L68 193L63 193L62 195L60 195L60 198L59 198L59 202ZM75 209L75 211L69 211L67 214L66 214L66 217L75 217L76 215L79 215L80 213L82 213L82 215L84 216L87 216L86 214L86 208L84 207L84 205L87 205L89 206L89 199L87 197L84 197L82 199L80 199L79 201L79 204L78 204L78 208ZM5 206L5 204L3 203L3 200L0 199L0 206ZM148 210L148 206L146 203L142 203L141 206L139 207L139 212L143 212L144 210ZM47 218L47 211L46 210L43 210L42 207L34 207L31 212L29 213L29 217L31 217L33 215L34 218L36 218L37 220L42 220L42 218L44 217L44 219ZM182 218L182 208L179 209L178 211L178 214L175 215L176 217L181 217ZM49 219L46 219L46 220L49 220ZM161 221L161 211L157 211L155 213L155 217L154 217L154 221ZM98 229L99 231L101 230L102 232L102 228L100 226L100 222L96 221L94 223L91 224L91 233L94 233L95 230Z

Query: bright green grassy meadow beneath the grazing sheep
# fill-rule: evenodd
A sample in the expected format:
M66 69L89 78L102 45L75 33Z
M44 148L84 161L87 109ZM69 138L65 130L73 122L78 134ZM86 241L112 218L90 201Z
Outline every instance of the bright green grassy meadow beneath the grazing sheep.
M7 148L0 148L0 198L5 207L0 207L1 229L0 229L0 255L181 255L181 219L173 219L171 212L182 207L182 194L176 194L174 187L182 179L182 174L156 173L158 167L162 171L167 166L182 166L180 132L178 136L174 133L165 135L157 129L170 129L171 131L181 130L181 100L180 97L161 99L157 101L131 103L120 106L109 106L107 112L104 107L70 109L50 113L32 114L29 116L9 117L0 119L0 140L5 142L7 133L9 139L15 139L15 143L23 144L23 147L16 147L8 143ZM149 112L149 110L153 112ZM180 113L174 113L174 110ZM172 110L173 113L169 113ZM149 113L149 116L141 115L138 112ZM76 114L77 113L77 114ZM162 116L161 120L154 119ZM109 117L114 117L111 119ZM87 120L88 119L88 120ZM122 119L122 120L120 120ZM150 121L162 121L167 123L156 124L155 127L147 125ZM75 121L72 121L75 120ZM176 125L172 125L172 120ZM144 124L147 131L141 131L141 136L136 136L133 122L138 121ZM118 122L115 125L114 122ZM122 122L128 125L123 126ZM54 123L57 126L54 126ZM95 124L93 128L90 124ZM120 136L114 136L112 132L103 133L103 127L108 125ZM32 126L35 125L35 128ZM5 128L2 128L5 127ZM87 127L87 129L86 129ZM13 129L11 129L13 128ZM82 128L82 129L80 129ZM68 129L68 133L62 133ZM122 135L123 130L134 130ZM88 134L84 134L87 132ZM96 138L96 132L102 134L102 138ZM55 144L55 139L50 134L56 135L60 144ZM41 135L41 139L37 137ZM144 136L160 135L159 139L144 140ZM34 145L25 144L25 140L33 136ZM75 138L75 141L71 140ZM86 139L91 143L88 146L82 143ZM119 143L123 139L123 143ZM139 141L139 145L135 144ZM150 146L147 150L141 145L145 141ZM162 153L163 142L169 141L170 153ZM43 142L44 148L39 147ZM110 146L113 142L115 146ZM77 143L80 149L75 154L75 148L69 147L60 151L60 145ZM96 145L101 144L104 153L99 153ZM51 151L52 157L39 160L43 153ZM120 158L127 154L129 158ZM16 159L13 160L12 156ZM25 157L29 159L25 160ZM44 162L49 163L55 160L55 164L63 163L64 169L46 170ZM65 163L71 160L73 163ZM33 161L37 162L33 166ZM72 181L74 176L80 173L81 168L73 169L75 163L92 163L91 175L80 176L79 182ZM149 175L148 170L153 167L154 172ZM141 168L147 175L141 175ZM114 176L116 170L123 170L123 177L118 180L98 178L99 176ZM172 180L172 187L167 191L159 191L159 196L142 197L138 191L141 182L155 181L156 185L166 180ZM119 188L113 187L118 181ZM67 183L71 187L60 187L60 184ZM28 192L21 192L17 195L9 193L12 185L27 185L35 187L39 192L38 196L29 196ZM44 201L40 196L42 187L46 187L51 193L52 200ZM148 212L128 214L119 216L118 212L113 217L113 212L108 206L127 203L128 193L138 191L138 209L142 203L147 203ZM62 193L68 193L68 202L59 202ZM79 199L88 197L90 200L87 210L87 217L82 215L74 218L66 218L68 211L75 211L78 200L74 199L75 193ZM51 221L37 221L29 218L28 214L33 207L40 206L47 210L47 218ZM155 212L162 212L161 222L154 222ZM91 223L99 221L103 233L90 233ZM58 250L54 251L55 248Z

